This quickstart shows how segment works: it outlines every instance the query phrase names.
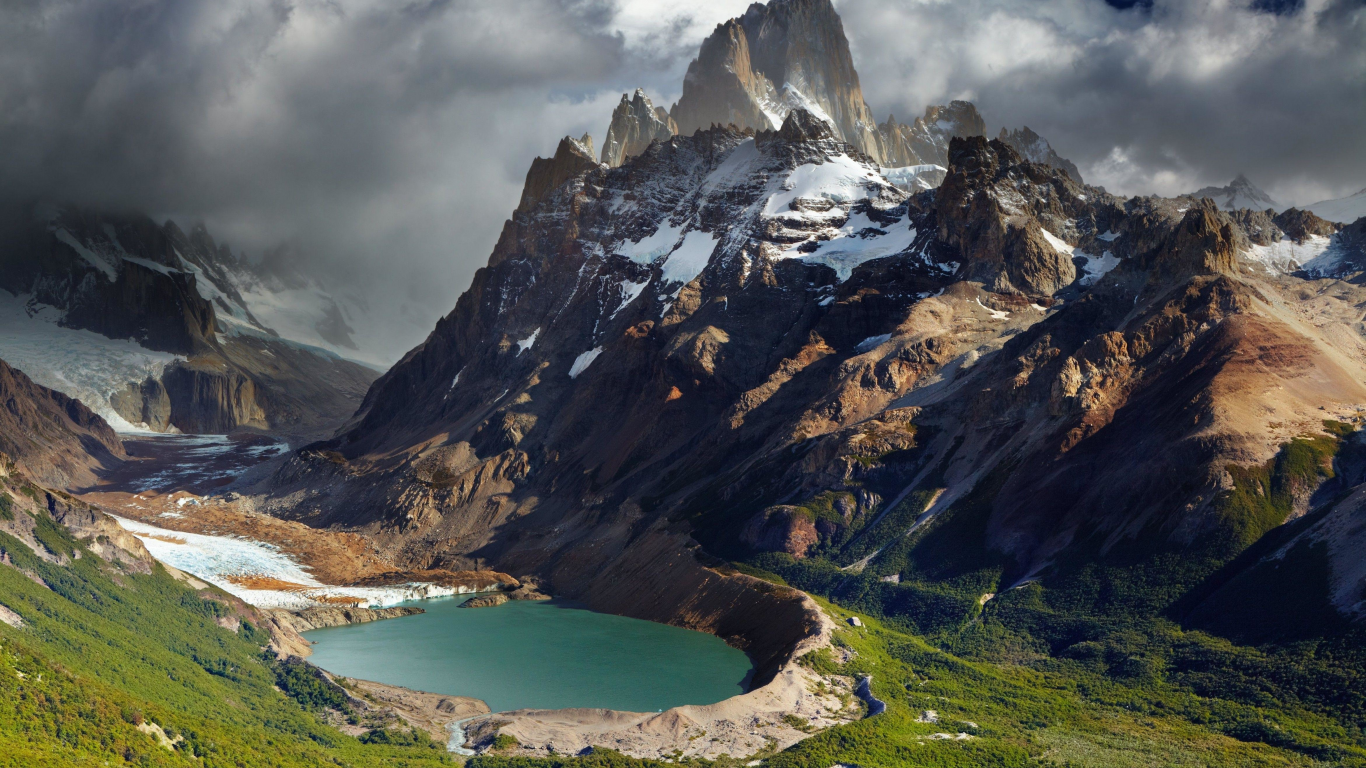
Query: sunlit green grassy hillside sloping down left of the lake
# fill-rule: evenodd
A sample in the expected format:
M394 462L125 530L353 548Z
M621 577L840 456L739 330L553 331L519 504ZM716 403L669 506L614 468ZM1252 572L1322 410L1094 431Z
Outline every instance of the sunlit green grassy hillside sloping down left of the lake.
M214 593L160 566L111 566L41 504L4 497L7 515L34 518L49 555L0 533L0 604L23 619L0 623L0 767L452 764L421 735L362 743L325 726L314 712L337 704L328 686L264 653L270 638L250 622L220 626L236 618Z

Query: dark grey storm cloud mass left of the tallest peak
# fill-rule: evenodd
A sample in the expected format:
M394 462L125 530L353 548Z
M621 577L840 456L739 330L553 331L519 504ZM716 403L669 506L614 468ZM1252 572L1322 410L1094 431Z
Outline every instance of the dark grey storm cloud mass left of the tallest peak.
M37 0L0 8L0 197L291 242L422 338L526 165L597 126L611 5Z

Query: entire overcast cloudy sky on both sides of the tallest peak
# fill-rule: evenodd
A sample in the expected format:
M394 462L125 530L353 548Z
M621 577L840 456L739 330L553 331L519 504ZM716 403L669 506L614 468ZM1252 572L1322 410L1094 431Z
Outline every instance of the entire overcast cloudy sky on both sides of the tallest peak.
M1091 183L1366 187L1363 0L837 0L878 119L968 98ZM484 265L526 168L671 104L729 0L4 0L0 195L291 242L398 358ZM1279 12L1259 8L1274 7ZM376 335L369 335L376 336Z

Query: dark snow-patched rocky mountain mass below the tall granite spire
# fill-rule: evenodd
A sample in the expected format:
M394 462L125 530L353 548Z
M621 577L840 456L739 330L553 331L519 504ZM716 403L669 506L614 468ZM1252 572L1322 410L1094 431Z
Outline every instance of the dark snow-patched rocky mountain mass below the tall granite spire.
M1233 320L1269 312L1258 297L1281 290L1253 287L1249 272L1255 239L1288 239L1279 225L1251 235L1213 204L1115 198L1000 141L955 139L948 161L938 190L908 195L803 111L779 131L656 142L620 168L585 161L507 224L490 266L376 384L355 428L313 450L337 459L306 451L281 470L280 493L328 478L316 503L281 511L354 526L414 564L555 574L556 563L581 560L570 555L579 536L660 519L660 510L701 514L688 510L703 499L712 508L691 525L709 547L800 555L880 514L896 486L854 493L843 517L814 525L802 504L746 502L723 514L735 503L717 502L839 496L878 473L914 485L929 456L948 467L944 508L1009 454L1020 466L1085 458L1091 469L1074 477L1120 473L1130 480L1106 482L1128 486L1273 450L1269 432L1265 443L1199 439L1195 454L1168 450L1161 467L1135 473L1164 452L1096 466L1098 444L1078 445L1117 433L1123 403L1161 391L1182 370L1172 361L1213 354L1180 328L1199 328L1199 339L1235 327L1287 332L1280 321ZM1303 235L1322 236L1314 227ZM1072 340L1057 346L1063 338ZM1294 344L1321 350L1295 370L1339 354L1321 338ZM1320 370L1348 370L1340 366ZM1359 385L1335 376L1330 391L1351 402ZM1269 407L1303 424L1318 404ZM605 407L617 415L604 418ZM978 413L997 414L999 426L978 424ZM933 432L962 441L915 437ZM770 466L790 465L779 456L794 450L798 465ZM884 454L919 458L900 469L855 461ZM1053 471L1016 471L1024 485L999 502L988 544L1030 573L1078 536L1059 510L1093 507L1085 495L1059 503L1042 485ZM1132 497L1180 536L1210 525L1198 512L1173 517L1141 488ZM586 499L593 511L571 511ZM1030 499L1053 503L1045 512ZM404 511L329 511L385 508ZM1106 519L1087 526L1121 536L1132 518Z

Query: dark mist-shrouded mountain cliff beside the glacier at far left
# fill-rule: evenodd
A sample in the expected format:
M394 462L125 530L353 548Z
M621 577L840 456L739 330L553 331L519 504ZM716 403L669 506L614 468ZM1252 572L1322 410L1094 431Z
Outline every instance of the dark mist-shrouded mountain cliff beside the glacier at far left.
M0 348L34 358L30 368L53 384L79 383L87 389L81 396L111 418L156 430L316 436L344 421L376 376L288 342L257 318L239 292L247 266L202 227L186 234L145 216L63 208L11 216L4 239L0 288L22 310L7 316L11 338ZM60 344L71 336L36 332L53 320L111 343L78 338L81 346L67 351L71 359L60 359ZM57 348L23 342L34 336L51 338ZM107 355L104 369L81 362L90 348ZM139 370L120 365L120 355L161 362ZM66 364L75 369L55 368Z

